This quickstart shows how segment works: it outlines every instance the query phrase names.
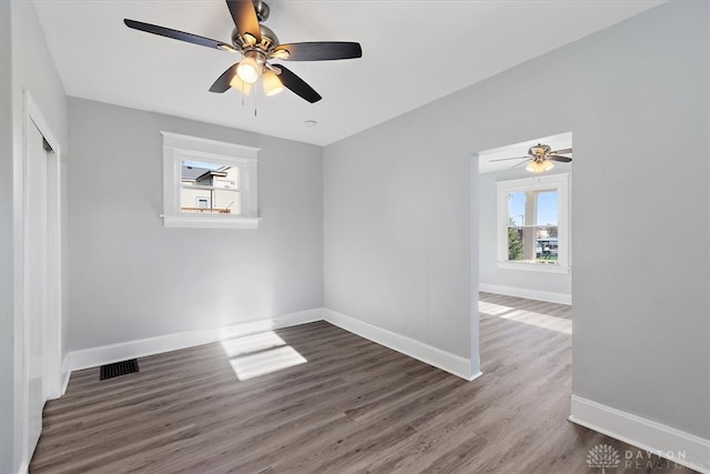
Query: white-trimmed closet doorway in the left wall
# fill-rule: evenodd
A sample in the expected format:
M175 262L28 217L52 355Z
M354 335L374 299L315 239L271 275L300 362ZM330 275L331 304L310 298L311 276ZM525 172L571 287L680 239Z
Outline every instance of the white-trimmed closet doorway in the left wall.
M29 463L42 430L44 403L61 395L61 185L59 143L26 92L22 155L22 317L17 434ZM27 465L27 464L26 464Z

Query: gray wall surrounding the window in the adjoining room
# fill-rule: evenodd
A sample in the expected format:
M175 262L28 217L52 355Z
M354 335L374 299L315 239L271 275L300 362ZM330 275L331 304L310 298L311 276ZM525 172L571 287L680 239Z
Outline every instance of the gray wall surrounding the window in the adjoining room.
M515 163L515 162L514 162ZM546 174L570 173L570 191L572 184L571 167L555 170ZM481 173L478 178L478 260L480 284L508 286L514 289L571 295L571 273L545 273L529 270L499 269L498 260L498 181L530 178L530 173L520 167L518 170ZM570 242L571 243L571 242ZM571 243L574 245L574 243ZM571 246L570 246L571 248Z

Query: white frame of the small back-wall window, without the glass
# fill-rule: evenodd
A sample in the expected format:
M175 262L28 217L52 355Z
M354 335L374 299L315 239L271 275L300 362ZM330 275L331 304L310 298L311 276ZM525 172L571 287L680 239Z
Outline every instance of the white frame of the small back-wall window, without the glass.
M166 228L256 229L257 148L179 133L163 135L163 225ZM241 213L212 214L181 211L182 162L202 161L240 169Z

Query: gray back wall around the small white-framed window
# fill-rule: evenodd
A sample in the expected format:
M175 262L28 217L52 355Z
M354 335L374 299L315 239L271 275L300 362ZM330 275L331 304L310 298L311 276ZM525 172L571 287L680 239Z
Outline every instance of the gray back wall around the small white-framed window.
M322 149L69 99L69 345L323 306ZM165 229L160 131L261 148L257 230Z

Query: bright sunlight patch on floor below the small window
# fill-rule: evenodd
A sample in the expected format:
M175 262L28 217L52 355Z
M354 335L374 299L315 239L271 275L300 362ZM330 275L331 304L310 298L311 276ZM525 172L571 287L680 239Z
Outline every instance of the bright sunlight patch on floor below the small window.
M222 341L222 349L240 381L308 362L273 331Z

